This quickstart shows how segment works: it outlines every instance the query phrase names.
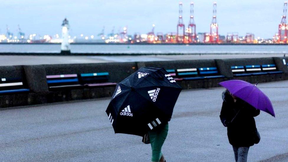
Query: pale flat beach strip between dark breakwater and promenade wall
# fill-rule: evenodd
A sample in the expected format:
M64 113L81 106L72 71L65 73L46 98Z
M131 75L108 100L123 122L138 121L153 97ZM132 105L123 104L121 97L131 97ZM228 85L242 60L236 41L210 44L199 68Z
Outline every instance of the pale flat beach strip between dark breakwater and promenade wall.
M13 56L1 55L0 65L38 65L71 63L105 63L167 60L201 60L225 58L283 57L283 54L202 54L202 55L138 55L138 56Z

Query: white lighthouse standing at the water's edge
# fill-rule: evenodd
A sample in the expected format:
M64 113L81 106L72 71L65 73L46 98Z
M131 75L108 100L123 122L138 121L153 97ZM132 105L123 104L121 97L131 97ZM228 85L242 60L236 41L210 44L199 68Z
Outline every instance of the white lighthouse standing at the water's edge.
M62 43L61 53L70 54L70 43L69 43L69 22L65 18L62 23Z

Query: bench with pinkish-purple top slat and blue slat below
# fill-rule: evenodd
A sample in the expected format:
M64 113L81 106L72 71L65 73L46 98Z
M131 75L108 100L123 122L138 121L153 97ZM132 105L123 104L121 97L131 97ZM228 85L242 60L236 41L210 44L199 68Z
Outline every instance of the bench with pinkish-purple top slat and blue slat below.
M81 86L77 74L48 75L46 79L49 89Z

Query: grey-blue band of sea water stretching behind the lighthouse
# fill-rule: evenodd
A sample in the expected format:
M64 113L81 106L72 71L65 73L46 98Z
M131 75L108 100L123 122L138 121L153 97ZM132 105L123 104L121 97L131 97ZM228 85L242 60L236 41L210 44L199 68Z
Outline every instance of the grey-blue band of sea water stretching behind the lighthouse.
M0 44L0 52L58 53L59 44ZM288 45L73 45L72 53L288 53Z

